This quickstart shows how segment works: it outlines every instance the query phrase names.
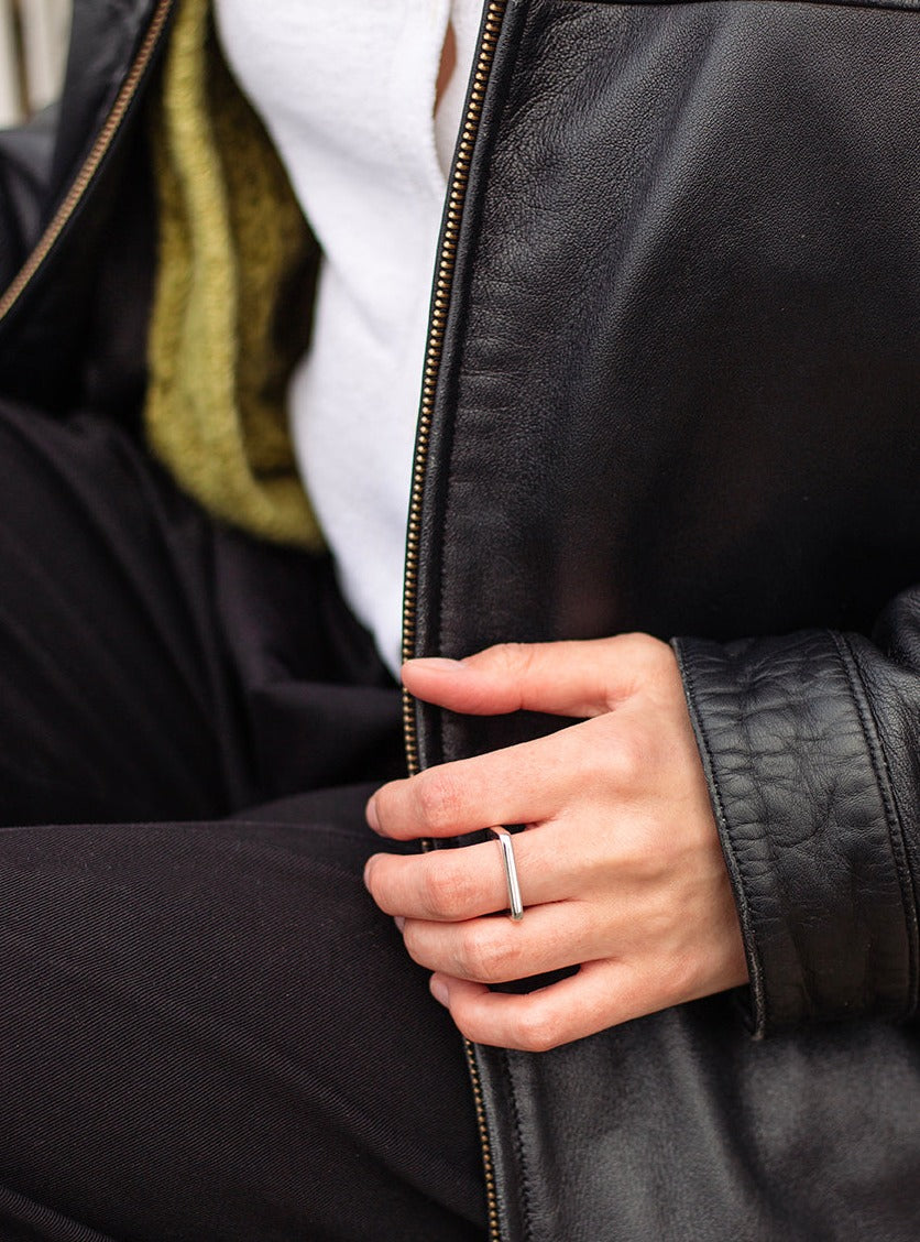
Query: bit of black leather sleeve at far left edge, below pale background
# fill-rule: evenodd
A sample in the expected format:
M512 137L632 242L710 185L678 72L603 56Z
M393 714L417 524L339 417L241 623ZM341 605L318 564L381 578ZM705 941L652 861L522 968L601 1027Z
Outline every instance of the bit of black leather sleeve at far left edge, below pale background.
M29 124L0 133L0 292L41 232L56 116L57 109L47 108Z

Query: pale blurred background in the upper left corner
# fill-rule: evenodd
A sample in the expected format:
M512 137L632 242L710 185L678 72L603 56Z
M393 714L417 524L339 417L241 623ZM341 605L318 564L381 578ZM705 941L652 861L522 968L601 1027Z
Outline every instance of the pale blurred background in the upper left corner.
M57 98L71 0L0 0L0 128Z

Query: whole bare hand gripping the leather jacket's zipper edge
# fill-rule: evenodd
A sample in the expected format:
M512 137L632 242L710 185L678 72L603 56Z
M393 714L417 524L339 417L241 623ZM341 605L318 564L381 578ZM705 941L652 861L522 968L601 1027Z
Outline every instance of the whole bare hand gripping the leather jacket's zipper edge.
M374 854L365 882L435 971L468 1038L544 1051L747 980L699 751L670 648L646 635L492 647L404 666L408 691L452 712L529 708L584 718L548 738L392 781L368 804L382 836L514 837L525 914L508 905L494 841ZM405 922L404 922L405 920ZM565 966L530 992L487 985Z

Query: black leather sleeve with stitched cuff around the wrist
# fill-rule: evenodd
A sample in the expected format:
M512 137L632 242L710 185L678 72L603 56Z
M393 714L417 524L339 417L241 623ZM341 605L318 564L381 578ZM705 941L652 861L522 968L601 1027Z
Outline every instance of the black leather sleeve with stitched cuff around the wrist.
M920 587L873 641L674 642L731 876L756 1036L918 1010Z

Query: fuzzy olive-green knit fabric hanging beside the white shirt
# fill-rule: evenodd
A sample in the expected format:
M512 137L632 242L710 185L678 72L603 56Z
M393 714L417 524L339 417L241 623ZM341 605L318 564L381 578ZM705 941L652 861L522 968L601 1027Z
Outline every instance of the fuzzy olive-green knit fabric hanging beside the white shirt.
M319 548L287 421L317 246L271 140L217 51L207 0L179 6L155 104L154 159L149 443L216 517ZM299 304L286 297L293 291Z

